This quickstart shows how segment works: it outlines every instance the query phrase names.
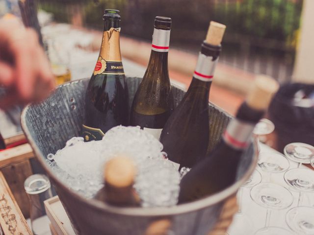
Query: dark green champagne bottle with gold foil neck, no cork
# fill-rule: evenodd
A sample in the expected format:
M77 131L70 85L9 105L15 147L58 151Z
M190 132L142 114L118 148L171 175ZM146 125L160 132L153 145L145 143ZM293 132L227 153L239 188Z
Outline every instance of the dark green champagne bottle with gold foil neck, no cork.
M105 10L104 34L85 96L85 141L101 140L117 125L128 125L129 93L120 54L120 11Z

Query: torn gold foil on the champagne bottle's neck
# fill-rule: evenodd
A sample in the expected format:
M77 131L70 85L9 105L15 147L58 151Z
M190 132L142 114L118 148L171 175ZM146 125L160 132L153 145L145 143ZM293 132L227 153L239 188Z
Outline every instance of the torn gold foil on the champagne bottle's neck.
M103 33L100 56L105 61L121 61L120 54L120 28L110 28Z

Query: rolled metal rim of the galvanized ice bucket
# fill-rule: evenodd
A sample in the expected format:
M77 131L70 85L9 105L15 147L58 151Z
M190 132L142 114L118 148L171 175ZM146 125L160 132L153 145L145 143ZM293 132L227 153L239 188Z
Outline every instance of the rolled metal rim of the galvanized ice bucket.
M63 85L60 85L58 87L62 86L68 86L72 83L78 83L82 82L86 78L76 80L76 81L71 81L67 82ZM181 90L183 90L181 87L173 85ZM222 110L221 108L217 107L216 105L212 104L209 102L210 105L213 105L215 108L218 108L219 110ZM210 195L208 197L193 201L193 202L188 202L184 203L181 205L176 205L172 207L156 207L156 208L136 208L136 207L129 207L129 208L121 208L121 207L114 207L110 206L108 204L105 204L101 201L98 201L96 199L87 199L81 196L80 194L74 192L70 188L66 187L65 184L62 183L61 180L56 177L50 167L45 163L44 161L44 156L41 154L40 150L38 149L37 145L35 142L28 138L30 136L29 129L26 125L26 113L27 110L29 109L31 104L26 105L26 107L22 111L21 115L21 124L22 124L22 129L24 133L26 134L26 139L29 142L30 146L32 147L36 158L38 159L39 163L41 166L45 169L45 171L48 173L49 177L57 184L58 187L62 188L62 190L66 191L68 195L71 195L72 197L76 198L80 203L84 203L88 205L89 207L92 207L94 209L100 210L100 211L106 211L110 213L115 213L115 214L121 214L121 215L128 215L128 216L172 216L176 214L182 214L182 213L187 213L191 211L197 211L199 209L207 208L209 206L212 206L214 204L217 204L219 202L224 201L228 197L234 195L237 191L238 188L240 188L250 177L250 175L253 173L257 162L258 162L258 148L257 148L257 140L256 138L253 140L254 144L254 155L252 162L248 168L248 170L244 173L244 175L236 181L233 185L231 185L228 188L225 188L224 190L215 193L213 195Z

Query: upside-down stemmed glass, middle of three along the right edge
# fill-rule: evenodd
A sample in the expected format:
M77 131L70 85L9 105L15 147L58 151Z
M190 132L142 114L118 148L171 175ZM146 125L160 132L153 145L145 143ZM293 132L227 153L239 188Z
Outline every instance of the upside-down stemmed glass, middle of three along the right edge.
M314 171L311 169L294 168L284 174L288 186L299 191L298 206L302 205L304 193L314 192Z

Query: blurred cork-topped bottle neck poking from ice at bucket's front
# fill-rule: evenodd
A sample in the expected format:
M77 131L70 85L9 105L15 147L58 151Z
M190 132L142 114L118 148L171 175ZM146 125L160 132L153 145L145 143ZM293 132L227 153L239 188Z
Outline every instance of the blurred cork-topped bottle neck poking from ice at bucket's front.
M105 187L96 199L119 207L139 206L139 197L133 189L136 169L130 158L119 156L105 164Z

